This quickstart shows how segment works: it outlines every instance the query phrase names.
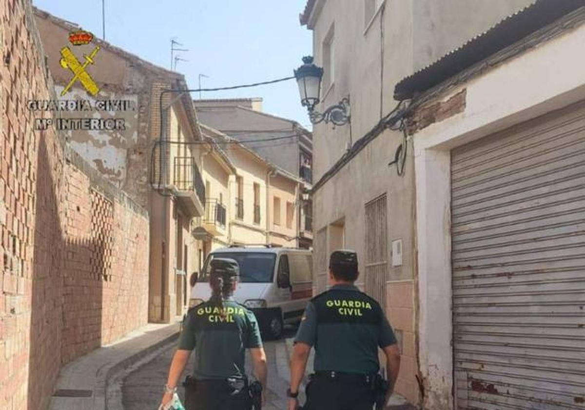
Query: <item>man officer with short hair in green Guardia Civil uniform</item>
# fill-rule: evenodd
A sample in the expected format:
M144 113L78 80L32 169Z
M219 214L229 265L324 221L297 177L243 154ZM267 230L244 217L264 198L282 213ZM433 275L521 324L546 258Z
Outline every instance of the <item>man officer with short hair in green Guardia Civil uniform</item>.
M386 402L390 397L400 368L400 352L380 305L353 285L358 275L356 252L331 254L332 286L308 303L295 338L287 391L289 410L298 406L298 388L311 347L315 347L315 374L305 389L304 410L371 410L380 369L378 347L387 358L390 387Z

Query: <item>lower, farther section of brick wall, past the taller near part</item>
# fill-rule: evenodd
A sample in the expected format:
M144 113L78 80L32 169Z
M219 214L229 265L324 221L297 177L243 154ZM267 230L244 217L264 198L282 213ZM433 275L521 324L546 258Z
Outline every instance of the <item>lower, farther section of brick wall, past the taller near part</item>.
M63 363L146 324L149 280L146 215L77 153L68 157Z

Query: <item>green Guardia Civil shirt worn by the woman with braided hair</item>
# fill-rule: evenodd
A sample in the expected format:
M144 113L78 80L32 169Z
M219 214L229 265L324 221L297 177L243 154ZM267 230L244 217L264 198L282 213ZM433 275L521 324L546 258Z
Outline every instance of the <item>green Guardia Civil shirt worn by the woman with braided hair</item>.
M246 349L262 347L254 313L233 299L223 301L223 310L209 302L194 306L183 322L178 348L195 347L196 379L244 377Z

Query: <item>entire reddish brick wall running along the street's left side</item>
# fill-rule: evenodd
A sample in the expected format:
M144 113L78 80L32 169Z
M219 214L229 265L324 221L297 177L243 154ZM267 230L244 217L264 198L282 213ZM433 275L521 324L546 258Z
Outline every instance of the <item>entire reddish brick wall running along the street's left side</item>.
M148 221L33 130L51 113L26 101L56 97L30 1L0 0L0 46L0 408L40 410L64 363L146 323Z

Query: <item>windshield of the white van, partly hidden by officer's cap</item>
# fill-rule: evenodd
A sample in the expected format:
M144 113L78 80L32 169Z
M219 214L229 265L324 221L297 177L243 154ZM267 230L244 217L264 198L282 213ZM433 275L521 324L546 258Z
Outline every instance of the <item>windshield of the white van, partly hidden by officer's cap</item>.
M270 283L273 281L276 254L267 252L221 252L209 255L199 275L198 282L209 282L209 265L213 258L235 259L240 265L241 283Z

